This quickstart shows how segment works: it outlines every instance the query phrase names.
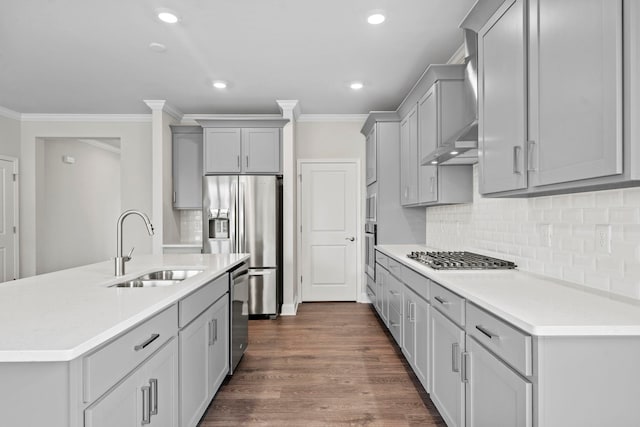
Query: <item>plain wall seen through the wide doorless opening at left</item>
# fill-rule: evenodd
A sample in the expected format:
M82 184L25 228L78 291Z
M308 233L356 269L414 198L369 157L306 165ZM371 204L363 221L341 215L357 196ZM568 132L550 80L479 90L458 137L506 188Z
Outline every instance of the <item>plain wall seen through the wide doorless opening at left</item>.
M37 143L36 273L114 256L120 215L120 154L77 140ZM75 163L62 161L72 156ZM40 157L42 160L40 161Z

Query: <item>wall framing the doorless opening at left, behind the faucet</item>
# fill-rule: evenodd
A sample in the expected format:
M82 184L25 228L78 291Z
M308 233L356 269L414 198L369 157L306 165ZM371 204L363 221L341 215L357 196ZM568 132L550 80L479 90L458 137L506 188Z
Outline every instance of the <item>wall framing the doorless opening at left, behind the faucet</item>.
M21 131L20 187L20 272L21 277L36 273L36 140L42 138L119 138L120 193L122 210L139 209L151 214L151 123L136 121L23 121ZM153 218L151 218L153 221ZM113 227L113 256L116 224ZM137 221L127 221L124 247L136 247L136 253L151 253L151 238Z

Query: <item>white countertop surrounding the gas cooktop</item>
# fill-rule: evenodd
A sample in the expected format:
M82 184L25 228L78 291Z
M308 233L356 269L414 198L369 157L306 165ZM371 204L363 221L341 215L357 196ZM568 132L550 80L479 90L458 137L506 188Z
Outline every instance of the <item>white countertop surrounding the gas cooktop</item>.
M516 270L434 270L407 258L418 245L376 249L537 336L640 335L640 302Z

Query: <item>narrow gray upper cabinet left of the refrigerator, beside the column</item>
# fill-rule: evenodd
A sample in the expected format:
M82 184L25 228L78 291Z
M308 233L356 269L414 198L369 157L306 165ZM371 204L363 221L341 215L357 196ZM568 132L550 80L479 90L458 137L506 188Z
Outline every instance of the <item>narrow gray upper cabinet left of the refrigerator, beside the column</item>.
M173 134L173 207L202 208L202 128L171 126Z

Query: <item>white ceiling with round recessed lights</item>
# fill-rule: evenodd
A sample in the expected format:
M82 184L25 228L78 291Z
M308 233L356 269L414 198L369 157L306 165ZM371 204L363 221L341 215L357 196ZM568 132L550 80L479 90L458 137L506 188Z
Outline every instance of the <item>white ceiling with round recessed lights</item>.
M0 12L0 106L20 113L185 114L395 110L462 43L473 0L8 0ZM178 24L156 18L159 8ZM387 20L373 26L368 12ZM164 53L149 43L166 45ZM212 80L229 82L223 91ZM365 88L349 89L351 81Z

